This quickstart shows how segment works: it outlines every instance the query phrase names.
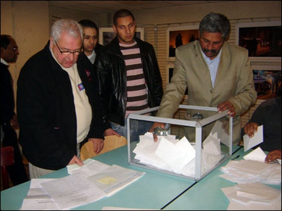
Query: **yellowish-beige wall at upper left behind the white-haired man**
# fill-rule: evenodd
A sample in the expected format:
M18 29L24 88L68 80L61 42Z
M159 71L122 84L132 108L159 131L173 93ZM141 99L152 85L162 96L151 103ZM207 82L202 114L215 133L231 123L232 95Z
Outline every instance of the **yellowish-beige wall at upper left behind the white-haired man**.
M49 8L48 1L2 1L1 0L1 34L10 34L19 47L16 63L9 70L14 80L16 99L16 81L24 63L41 50L50 36L52 16L73 18L75 20L92 19L94 15L70 10Z

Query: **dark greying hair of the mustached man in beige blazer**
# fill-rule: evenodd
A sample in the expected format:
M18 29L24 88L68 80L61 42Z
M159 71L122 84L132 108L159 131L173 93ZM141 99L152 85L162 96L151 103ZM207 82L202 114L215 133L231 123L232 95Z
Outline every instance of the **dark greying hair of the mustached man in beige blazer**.
M225 15L219 13L209 13L205 15L200 23L200 35L204 32L222 33L222 38L227 39L230 31L230 22Z

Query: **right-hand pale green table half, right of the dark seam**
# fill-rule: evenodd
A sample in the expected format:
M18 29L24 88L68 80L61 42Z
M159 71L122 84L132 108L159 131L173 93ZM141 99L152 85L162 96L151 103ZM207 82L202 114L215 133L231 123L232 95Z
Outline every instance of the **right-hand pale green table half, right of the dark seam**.
M244 152L244 148L236 151L228 160L192 185L188 191L165 206L163 210L226 210L229 200L220 189L234 186L236 183L219 177L220 174L223 174L219 168L225 166L231 159L243 159L248 153L250 151ZM238 158L236 158L237 155L239 155ZM281 190L281 183L269 186Z

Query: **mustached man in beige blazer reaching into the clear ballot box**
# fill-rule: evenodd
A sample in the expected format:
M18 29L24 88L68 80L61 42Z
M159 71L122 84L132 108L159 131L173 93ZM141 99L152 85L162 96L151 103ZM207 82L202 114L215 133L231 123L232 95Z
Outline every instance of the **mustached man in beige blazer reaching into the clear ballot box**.
M248 51L226 42L229 31L230 22L225 15L209 13L200 23L199 40L176 48L171 83L164 92L157 117L172 118L188 88L188 105L217 107L219 112L229 109L234 118L233 144L238 144L240 114L255 103L257 93ZM164 126L155 122L150 132ZM186 130L187 136L188 133ZM194 134L188 139L193 139Z

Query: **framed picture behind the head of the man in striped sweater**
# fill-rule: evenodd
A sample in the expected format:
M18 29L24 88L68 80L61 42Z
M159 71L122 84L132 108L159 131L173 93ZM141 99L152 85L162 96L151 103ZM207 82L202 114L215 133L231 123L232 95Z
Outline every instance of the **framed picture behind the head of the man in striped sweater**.
M136 28L136 36L144 40L144 29L143 28ZM99 29L99 43L101 45L108 45L110 42L115 38L115 33L112 27L109 28L100 28Z

